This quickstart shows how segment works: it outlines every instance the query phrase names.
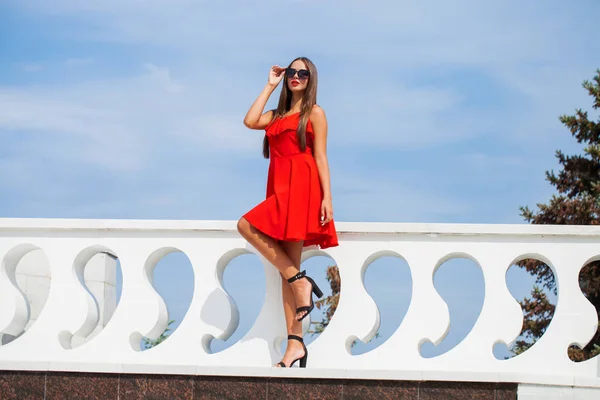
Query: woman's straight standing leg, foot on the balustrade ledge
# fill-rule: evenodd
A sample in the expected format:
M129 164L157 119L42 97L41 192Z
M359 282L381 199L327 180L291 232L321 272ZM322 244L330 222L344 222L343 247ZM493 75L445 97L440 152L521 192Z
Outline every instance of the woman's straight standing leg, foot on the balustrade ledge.
M300 269L300 261L302 259L303 242L280 242L281 247L292 260L294 265ZM281 277L281 293L283 297L283 313L285 314L285 325L288 335L296 335L302 337L302 322L296 320L296 300L294 293L287 279ZM304 348L302 343L297 340L288 340L287 349L281 360L285 365L298 358L304 356Z

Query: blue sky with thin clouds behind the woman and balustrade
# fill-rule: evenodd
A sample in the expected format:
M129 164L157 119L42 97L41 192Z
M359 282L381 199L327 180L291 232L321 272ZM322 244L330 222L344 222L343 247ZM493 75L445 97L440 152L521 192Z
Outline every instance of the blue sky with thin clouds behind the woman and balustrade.
M558 116L591 109L599 13L592 0L6 0L2 216L237 219L267 168L241 121L268 68L306 55L338 221L522 223L518 207L552 193L554 151L580 150ZM382 293L386 265L367 276ZM458 269L441 280L450 297ZM157 281L182 316L186 279ZM385 323L397 308L381 302Z

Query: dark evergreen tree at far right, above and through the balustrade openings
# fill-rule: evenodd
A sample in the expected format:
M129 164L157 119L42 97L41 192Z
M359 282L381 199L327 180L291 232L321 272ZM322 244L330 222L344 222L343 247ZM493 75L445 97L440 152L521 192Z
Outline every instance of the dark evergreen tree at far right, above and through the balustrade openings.
M599 110L600 69L592 82L583 82L583 88L592 97L594 110ZM553 195L548 204L538 204L536 212L521 207L521 216L532 224L597 225L600 223L600 118L596 122L590 121L587 111L578 109L575 115L562 115L560 121L569 128L577 142L584 145L583 154L566 156L557 150L556 158L561 169L558 174L546 171L546 180L558 194ZM517 354L527 350L544 334L554 314L554 306L549 303L542 288L556 294L556 281L546 264L527 260L519 265L536 277L536 287L531 297L521 302L525 310L525 339L517 342ZM591 262L582 268L579 285L600 316L600 262ZM569 357L574 361L586 360L598 353L600 330L583 349L569 349Z

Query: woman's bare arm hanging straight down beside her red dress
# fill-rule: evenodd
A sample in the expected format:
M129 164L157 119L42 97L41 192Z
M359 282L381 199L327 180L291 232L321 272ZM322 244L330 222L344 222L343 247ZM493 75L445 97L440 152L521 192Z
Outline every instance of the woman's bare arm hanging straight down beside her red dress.
M325 116L325 111L319 106L314 106L310 113L310 121L315 134L314 157L319 170L321 187L323 188L321 224L325 225L333 219L329 162L327 161L327 117Z

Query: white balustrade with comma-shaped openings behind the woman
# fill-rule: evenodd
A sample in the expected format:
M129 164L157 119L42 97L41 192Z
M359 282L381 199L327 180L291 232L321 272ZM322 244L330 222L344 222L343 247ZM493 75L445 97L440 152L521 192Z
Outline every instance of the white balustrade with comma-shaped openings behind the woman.
M26 295L15 269L29 252L45 254L51 276L44 308L25 334L0 346L0 369L69 370L521 382L600 387L598 359L575 363L572 344L585 346L598 320L583 296L578 275L600 258L600 228L591 226L337 223L340 246L308 248L303 260L327 255L338 265L342 288L337 311L326 330L309 345L306 369L276 369L276 344L285 337L280 277L264 259L266 295L249 332L230 348L212 354L213 338L227 339L237 327L235 303L222 286L223 271L236 256L255 253L232 221L128 221L0 219L0 332L17 335L29 321ZM155 338L167 326L163 299L151 283L156 263L173 251L189 258L194 293L179 327L162 344L140 351L143 336ZM82 284L84 266L99 253L119 257L122 296L104 329L73 345L98 327L99 310ZM369 340L379 314L365 290L367 267L382 256L408 263L412 299L404 320L377 348L352 355L356 339ZM485 298L471 332L450 351L420 355L426 341L448 333L448 307L433 285L436 269L453 257L467 257L483 272ZM523 314L506 285L506 272L524 258L551 266L558 286L554 319L528 351L507 360L494 357L497 343L510 346ZM30 295L30 294L29 294Z

